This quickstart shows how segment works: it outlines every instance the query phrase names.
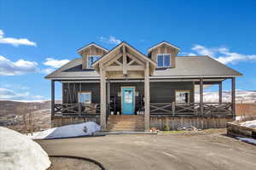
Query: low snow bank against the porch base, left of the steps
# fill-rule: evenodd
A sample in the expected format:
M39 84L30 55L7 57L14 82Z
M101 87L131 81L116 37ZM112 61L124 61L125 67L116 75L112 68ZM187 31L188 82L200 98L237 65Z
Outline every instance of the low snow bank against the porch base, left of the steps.
M49 128L48 130L28 135L31 139L57 139L79 136L90 136L101 127L96 122L83 122L62 127Z

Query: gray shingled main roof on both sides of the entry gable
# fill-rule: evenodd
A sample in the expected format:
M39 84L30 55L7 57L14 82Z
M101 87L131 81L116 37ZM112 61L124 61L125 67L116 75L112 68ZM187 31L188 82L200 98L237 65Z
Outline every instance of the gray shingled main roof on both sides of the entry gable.
M177 56L175 68L155 69L151 79L191 78L191 77L240 77L240 72L212 59L209 56ZM73 59L58 70L50 73L47 79L99 79L94 70L82 69L82 59Z

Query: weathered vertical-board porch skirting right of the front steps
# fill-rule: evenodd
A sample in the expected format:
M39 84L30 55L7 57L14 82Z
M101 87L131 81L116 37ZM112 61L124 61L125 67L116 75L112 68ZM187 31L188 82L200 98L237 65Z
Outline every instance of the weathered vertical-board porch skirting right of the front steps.
M224 128L227 122L233 122L231 116L225 117L201 117L201 116L150 116L150 127L164 130L177 130L179 127L193 126L198 129Z

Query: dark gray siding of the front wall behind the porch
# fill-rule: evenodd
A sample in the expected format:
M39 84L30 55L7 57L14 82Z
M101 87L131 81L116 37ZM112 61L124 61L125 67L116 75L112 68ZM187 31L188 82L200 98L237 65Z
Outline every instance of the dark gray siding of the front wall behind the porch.
M110 84L111 99L115 99L116 111L121 111L121 87L131 86L136 88L136 111L140 109L144 96L143 82L113 82ZM77 103L79 91L90 91L92 103L100 103L100 83L63 83L62 100L63 103ZM150 102L151 103L172 103L175 101L176 90L189 90L190 102L194 102L194 82L150 82ZM74 95L73 95L74 94Z

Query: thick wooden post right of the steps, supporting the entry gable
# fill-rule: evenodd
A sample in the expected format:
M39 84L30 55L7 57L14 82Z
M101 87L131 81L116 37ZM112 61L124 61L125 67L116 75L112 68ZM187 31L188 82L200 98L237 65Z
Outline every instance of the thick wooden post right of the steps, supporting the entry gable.
M150 91L149 91L149 63L147 62L144 71L144 130L149 131L150 127Z

